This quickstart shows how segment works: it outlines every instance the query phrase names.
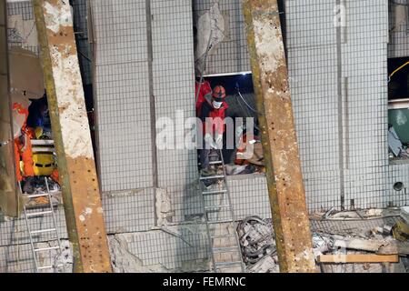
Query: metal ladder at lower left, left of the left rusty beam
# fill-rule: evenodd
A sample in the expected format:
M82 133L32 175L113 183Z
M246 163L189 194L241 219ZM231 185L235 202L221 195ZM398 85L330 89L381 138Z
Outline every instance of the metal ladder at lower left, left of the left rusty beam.
M64 266L64 264L59 264L59 265L55 264L56 257L62 256L61 239L58 233L58 228L56 226L52 195L50 193L50 188L48 186L47 177L44 177L44 178L45 178L46 192L42 194L27 195L27 197L30 199L38 198L38 197L47 197L48 203L44 206L35 206L35 207L32 207L32 206L27 207L25 205L24 206L25 226L27 227L28 235L30 238L31 250L33 253L34 261L35 261L35 271L40 272L42 270L54 269L54 272L57 272L58 267ZM47 217L50 217L50 216L52 217L52 221L53 221L52 228L44 228L44 229L40 228L40 229L35 229L35 230L31 229L30 223L29 223L30 219L38 218L38 217L42 217L46 219ZM35 243L35 239L33 236L42 235L42 234L50 234L51 237L47 239L47 242L56 241L57 246L35 247L35 245L38 243ZM56 253L55 256L52 256L53 251ZM50 253L50 260L52 262L50 265L45 265L45 266L40 265L40 262L37 256L40 253L44 253L44 252Z

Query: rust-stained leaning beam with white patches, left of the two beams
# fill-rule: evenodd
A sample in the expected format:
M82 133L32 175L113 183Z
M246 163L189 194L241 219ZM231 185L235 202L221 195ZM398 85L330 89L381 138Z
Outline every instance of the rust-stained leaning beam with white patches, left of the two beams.
M70 5L34 6L75 272L111 272Z

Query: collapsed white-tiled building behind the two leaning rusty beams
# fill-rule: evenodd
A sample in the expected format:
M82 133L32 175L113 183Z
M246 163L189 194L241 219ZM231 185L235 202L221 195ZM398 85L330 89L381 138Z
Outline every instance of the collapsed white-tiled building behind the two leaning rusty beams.
M38 55L33 4L0 4L7 19L2 45ZM252 74L242 1L75 0L71 5L114 271L210 271L197 152L158 149L157 121L195 117L197 75L212 85L234 82L227 90L232 108L243 117L257 116L254 90L243 95L235 90ZM404 0L279 1L314 255L340 247L346 254L399 255L388 269L368 259L341 266L326 262L323 272L408 267L407 72L402 68L399 79L388 78L408 57L407 5ZM339 13L342 25L334 23ZM214 22L217 29L209 29ZM9 115L6 95L2 116ZM400 143L391 142L391 135ZM184 137L177 132L175 143ZM18 189L6 178L14 175L7 152L1 156L0 271L33 272L37 264L52 264L71 272L62 199L56 198L55 217L13 217L25 201L20 195L10 201ZM241 222L239 238L250 236L240 242L247 270L277 272L266 174L226 176L226 183L234 220ZM61 246L55 247L49 234L30 235L30 229L54 227ZM236 230L219 231L225 236ZM52 249L35 260L33 243ZM217 247L231 244L221 240ZM384 251L385 246L394 250Z

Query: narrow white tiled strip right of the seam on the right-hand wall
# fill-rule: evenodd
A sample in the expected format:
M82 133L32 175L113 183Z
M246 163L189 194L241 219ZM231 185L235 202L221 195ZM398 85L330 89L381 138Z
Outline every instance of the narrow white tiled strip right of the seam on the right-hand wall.
M387 5L346 1L342 51L345 206L387 206ZM353 202L352 202L353 201Z

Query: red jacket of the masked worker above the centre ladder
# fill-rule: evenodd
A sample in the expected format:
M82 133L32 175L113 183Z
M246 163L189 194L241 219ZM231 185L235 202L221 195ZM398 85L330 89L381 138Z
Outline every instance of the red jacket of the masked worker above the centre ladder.
M203 123L203 134L217 133L224 134L224 118L225 110L229 107L227 103L223 102L223 105L219 109L215 109L212 105L205 102L202 105L202 110L199 115ZM212 132L213 130L213 132Z

